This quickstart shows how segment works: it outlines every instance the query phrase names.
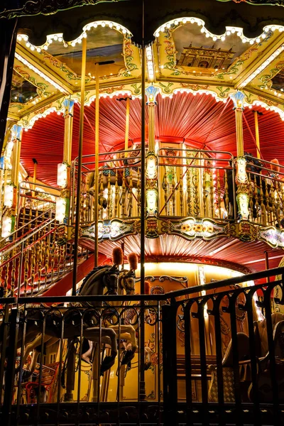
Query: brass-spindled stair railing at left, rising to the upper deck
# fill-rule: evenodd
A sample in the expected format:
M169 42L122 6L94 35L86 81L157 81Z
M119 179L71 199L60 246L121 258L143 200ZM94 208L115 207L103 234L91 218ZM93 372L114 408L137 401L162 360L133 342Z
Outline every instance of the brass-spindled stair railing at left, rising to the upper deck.
M2 239L0 276L4 297L38 295L72 271L72 242L60 245L52 187L20 185L16 230ZM50 192L53 191L53 194ZM87 253L80 249L80 260Z

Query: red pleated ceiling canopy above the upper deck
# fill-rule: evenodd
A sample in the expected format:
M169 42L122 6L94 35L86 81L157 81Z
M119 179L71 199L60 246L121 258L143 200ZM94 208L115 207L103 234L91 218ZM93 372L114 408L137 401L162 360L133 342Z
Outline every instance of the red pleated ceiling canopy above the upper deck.
M244 149L256 156L253 110L258 116L261 154L263 159L278 158L284 165L284 122L273 111L262 107L244 110ZM80 107L75 104L72 134L72 159L77 157ZM84 109L83 155L94 154L94 103ZM124 148L126 102L115 98L100 99L99 139L100 152ZM247 122L247 124L246 124ZM148 111L146 111L146 126ZM251 133L249 131L251 129ZM156 138L173 138L188 146L214 151L229 151L236 155L235 113L231 100L216 102L211 95L179 93L173 98L158 96L155 107ZM62 162L64 118L56 113L35 122L33 128L23 132L21 162L28 175L33 175L33 158L38 161L38 179L56 185L57 165ZM130 105L129 139L141 138L141 100Z

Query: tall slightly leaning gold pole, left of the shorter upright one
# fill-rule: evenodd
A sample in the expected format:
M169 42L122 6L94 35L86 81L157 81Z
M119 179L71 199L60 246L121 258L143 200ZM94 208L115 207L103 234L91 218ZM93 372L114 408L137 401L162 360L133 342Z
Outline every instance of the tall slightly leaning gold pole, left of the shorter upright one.
M84 130L84 84L86 76L86 55L87 39L82 38L82 72L81 72L81 107L80 107L80 127L79 127L79 152L78 152L78 175L77 175L77 195L76 195L76 217L75 217L75 239L74 239L74 263L72 277L72 295L76 295L77 285L77 264L79 246L79 226L80 226L80 200L82 184L82 153L83 153L83 130Z

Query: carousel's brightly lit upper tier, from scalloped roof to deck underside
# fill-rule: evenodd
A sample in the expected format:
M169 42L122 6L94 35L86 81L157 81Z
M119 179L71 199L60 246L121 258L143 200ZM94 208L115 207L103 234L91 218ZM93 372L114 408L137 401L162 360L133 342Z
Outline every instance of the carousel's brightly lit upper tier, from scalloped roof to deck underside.
M225 16L229 5L222 4L221 10L221 3L216 3L219 16ZM43 190L55 197L66 196L65 187L58 186L58 164L71 166L72 228L82 109L82 43L87 40L80 242L93 249L94 183L89 181L94 170L97 85L99 165L104 169L99 197L107 206L99 207L99 251L107 256L122 238L126 252L139 248L143 73L141 48L134 43L131 25L127 27L133 4L125 4L124 23L102 14L99 19L92 20L92 14L83 19L84 8L65 12L62 22L70 16L74 35L59 23L58 14L20 19L5 141L7 163L12 163L9 141L21 139L21 178L32 181L36 160L38 185L47 185ZM253 20L251 6L240 7ZM79 13L76 28L74 10ZM249 32L241 18L237 26L224 18L214 32L205 13L189 11L177 16L170 14L170 6L168 10L168 20L157 19L152 43L146 47L146 146L153 154L146 158L146 256L226 261L253 271L264 267L263 252L268 251L270 266L275 266L284 246L281 13L273 23L258 19L257 31ZM48 31L51 23L53 31ZM99 65L99 78L97 62L108 62ZM236 109L241 111L241 138ZM15 124L20 126L18 136ZM241 176L234 158L243 152L250 155L245 167L247 215L239 212L238 187L234 185L236 175ZM133 155L135 161L130 159ZM257 157L261 166L252 167ZM271 160L275 158L280 166L273 173ZM6 179L9 183L12 176L7 173ZM31 190L30 183L28 197L35 197ZM25 191L21 190L20 209L27 207L26 200L31 206ZM67 234L72 232L67 229ZM185 239L191 244L184 244Z

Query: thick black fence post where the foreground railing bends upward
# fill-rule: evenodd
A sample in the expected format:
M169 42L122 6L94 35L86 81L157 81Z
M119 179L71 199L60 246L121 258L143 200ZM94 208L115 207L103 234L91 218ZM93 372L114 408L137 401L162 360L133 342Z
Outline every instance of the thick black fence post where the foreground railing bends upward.
M175 301L162 306L163 325L163 415L164 425L178 424L178 371Z

